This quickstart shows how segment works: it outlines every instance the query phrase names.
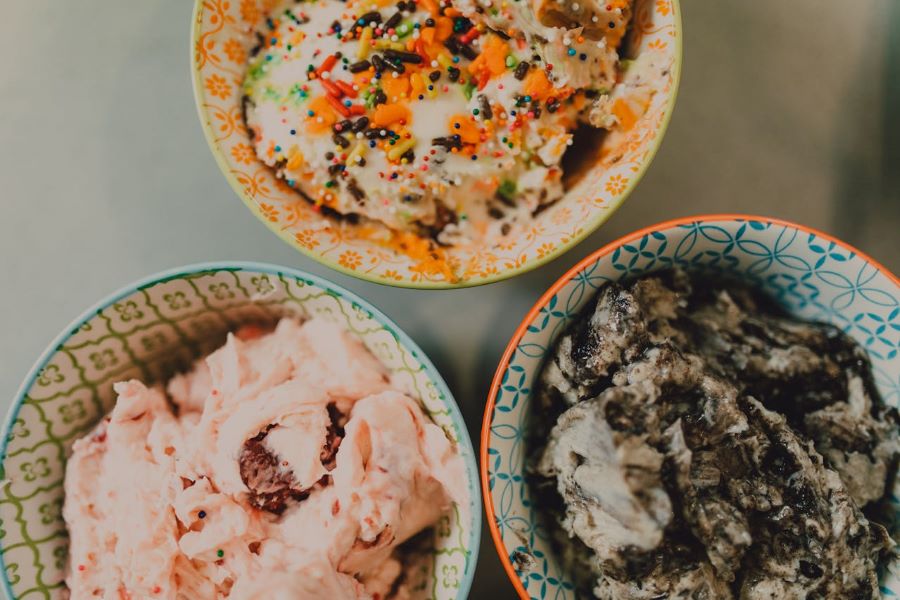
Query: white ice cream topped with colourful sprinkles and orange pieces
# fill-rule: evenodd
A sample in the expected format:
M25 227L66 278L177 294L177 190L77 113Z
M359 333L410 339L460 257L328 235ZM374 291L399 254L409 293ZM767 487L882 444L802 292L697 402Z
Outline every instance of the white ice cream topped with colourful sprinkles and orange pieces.
M257 155L330 214L464 243L564 192L581 124L628 129L648 53L622 62L632 0L291 3L257 32L243 113ZM626 64L645 71L617 85ZM402 238L401 239L405 239Z

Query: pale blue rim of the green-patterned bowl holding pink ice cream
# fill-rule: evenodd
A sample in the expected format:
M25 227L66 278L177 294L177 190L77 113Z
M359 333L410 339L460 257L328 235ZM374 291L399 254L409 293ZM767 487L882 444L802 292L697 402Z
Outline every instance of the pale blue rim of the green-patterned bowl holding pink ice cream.
M263 273L266 275L286 275L295 279L302 279L304 281L311 282L313 285L327 292L330 292L339 298L349 300L350 302L357 304L358 306L371 313L372 318L382 326L386 327L390 333L395 335L401 346L409 350L410 353L412 353L413 357L422 364L422 367L428 374L428 378L435 384L438 392L444 397L443 403L449 410L453 424L459 432L459 440L457 441L457 444L463 446L464 448L468 447L469 450L468 453L463 456L463 460L466 465L466 476L471 490L469 506L467 507L470 513L468 520L471 526L471 531L468 536L468 540L466 540L466 547L469 550L469 556L466 558L466 574L463 578L461 578L460 586L457 591L457 598L466 598L468 596L469 589L472 586L472 581L474 580L475 571L478 565L478 551L482 533L482 516L481 507L479 506L481 503L481 498L478 494L480 481L478 477L478 466L475 459L476 453L474 446L472 445L471 437L469 436L469 430L466 427L465 419L463 419L462 412L460 411L459 405L456 402L456 398L453 396L450 388L447 386L447 383L441 376L440 371L438 371L437 367L434 366L434 363L431 362L431 359L428 358L428 355L405 331L403 331L403 329L401 329L394 322L393 319L391 319L379 308L377 308L371 302L365 300L355 292L352 292L344 288L343 286L333 283L332 281L329 281L328 279L320 275L314 275L300 269L259 261L211 261L192 263L181 267L166 269L164 271L142 277L132 283L120 287L113 293L105 296L99 302L94 303L90 308L83 311L78 317L73 319L62 330L62 333L57 335L53 339L53 341L50 342L50 344L43 350L39 358L32 365L31 369L28 371L28 374L22 380L22 384L19 386L18 391L13 397L13 401L9 406L9 410L7 410L6 412L6 417L3 422L3 428L0 429L0 436L2 436L0 437L0 480L6 478L4 463L6 462L6 451L9 444L9 435L12 429L12 425L19 415L19 410L21 409L22 404L25 400L26 393L29 389L31 389L32 385L34 385L34 382L40 374L41 369L43 369L47 365L50 359L59 351L60 347L69 338L71 338L78 332L78 329L82 324L95 317L100 311L112 306L113 304L127 296L141 291L142 289L151 287L156 284L166 283L174 279L180 279L187 275L211 271L246 271L253 273ZM4 556L2 553L3 548L4 544L0 542L0 579L2 579L2 589L6 592L7 598L12 599L16 596L13 593L12 585L9 582L9 577L6 572L6 561L4 560Z

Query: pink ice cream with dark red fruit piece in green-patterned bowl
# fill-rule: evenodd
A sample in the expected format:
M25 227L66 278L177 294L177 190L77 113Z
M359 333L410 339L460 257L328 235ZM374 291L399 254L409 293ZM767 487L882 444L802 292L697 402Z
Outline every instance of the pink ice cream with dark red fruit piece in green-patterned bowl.
M325 320L116 392L66 469L72 598L402 598L398 546L466 504L443 430Z

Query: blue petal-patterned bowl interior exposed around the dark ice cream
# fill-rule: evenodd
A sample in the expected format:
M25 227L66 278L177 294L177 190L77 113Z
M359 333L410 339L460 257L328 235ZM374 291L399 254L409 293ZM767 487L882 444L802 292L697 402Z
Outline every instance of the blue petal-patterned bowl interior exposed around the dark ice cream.
M851 248L785 223L711 218L647 231L617 243L570 274L513 339L509 362L501 364L504 372L493 398L489 430L483 432L482 469L488 482L489 524L495 541L502 540L501 560L510 576L517 578L514 583L521 584L516 587L524 597L575 597L571 580L560 569L536 518L522 477L523 427L544 356L606 282L673 266L740 275L793 314L832 323L863 344L884 400L900 405L900 286L890 274ZM898 495L900 486L892 499L900 512ZM511 557L517 551L531 552L536 567L529 572L512 567ZM884 589L900 594L898 561L888 571Z

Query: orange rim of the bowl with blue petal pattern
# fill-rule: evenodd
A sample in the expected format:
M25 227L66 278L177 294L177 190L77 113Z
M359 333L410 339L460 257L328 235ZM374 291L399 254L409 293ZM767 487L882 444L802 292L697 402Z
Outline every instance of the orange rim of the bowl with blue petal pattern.
M800 225L799 223L795 223L793 221L788 221L785 219L779 219L775 217L764 217L758 215L749 215L749 214L740 214L740 213L710 213L710 214L700 214L690 217L679 217L677 219L670 219L667 221L662 221L656 223L654 225L649 225L647 227L642 227L636 231L625 234L620 238L617 238L608 244L594 250L586 257L578 261L575 266L566 271L559 279L557 279L553 285L551 285L546 292L541 294L541 297L538 298L537 302L534 303L534 306L526 313L522 321L519 323L518 327L516 327L515 332L510 338L509 343L506 346L506 349L503 351L503 355L500 358L500 362L497 365L497 370L494 372L494 378L491 381L491 387L488 391L487 402L484 405L484 416L482 418L481 424L481 442L479 448L479 470L481 474L481 494L484 501L484 511L487 521L487 527L491 534L491 539L494 542L494 549L496 550L500 563L503 565L503 570L506 571L506 575L509 577L510 582L513 584L516 592L519 597L527 600L530 598L528 593L525 591L525 588L522 586L522 582L519 579L518 575L516 575L516 571L512 566L512 563L509 560L508 552L506 550L506 545L503 543L503 537L500 534L500 530L496 524L496 514L494 512L494 503L493 496L491 495L490 486L488 485L488 449L490 448L491 442L491 423L493 422L494 416L494 408L497 399L497 392L500 389L500 384L503 380L503 375L506 373L506 370L509 368L509 361L512 358L513 352L518 347L519 342L522 337L527 332L528 326L532 321L538 316L541 309L550 301L553 296L555 296L559 290L565 287L566 284L569 283L578 273L583 271L585 268L594 264L599 259L612 254L617 248L620 248L624 244L628 244L630 242L637 241L644 237L647 234L663 231L666 229L672 229L674 227L678 227L679 225L688 225L691 223L703 223L709 221L733 221L744 222L744 221L758 221L761 223L769 223L774 225L783 225L786 227L793 228L797 231L803 233L813 234L817 237L825 239L831 243L834 243L837 246L840 246L844 250L852 252L871 264L875 269L877 269L880 273L883 273L887 276L887 278L900 288L900 278L894 275L887 267L874 260L865 252L861 252L857 250L850 244L843 242L836 237L824 233L818 229L813 227L808 227L806 225Z

